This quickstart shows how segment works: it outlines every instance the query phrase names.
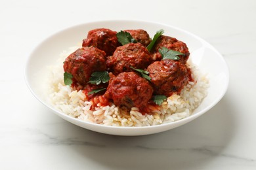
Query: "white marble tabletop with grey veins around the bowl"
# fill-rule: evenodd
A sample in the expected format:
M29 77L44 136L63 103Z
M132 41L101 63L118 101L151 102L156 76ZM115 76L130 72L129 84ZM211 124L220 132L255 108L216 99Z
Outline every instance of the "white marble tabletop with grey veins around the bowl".
M149 20L210 42L228 63L223 99L200 118L139 137L95 133L45 108L24 63L53 33L95 20ZM256 169L256 1L0 1L0 169Z

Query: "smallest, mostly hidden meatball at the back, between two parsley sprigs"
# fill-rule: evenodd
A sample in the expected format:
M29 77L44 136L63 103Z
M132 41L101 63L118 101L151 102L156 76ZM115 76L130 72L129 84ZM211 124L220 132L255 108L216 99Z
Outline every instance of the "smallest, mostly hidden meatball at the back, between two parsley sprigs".
M143 29L128 29L124 31L130 33L131 37L133 37L137 42L140 42L144 46L148 46L148 44L151 42L150 36Z

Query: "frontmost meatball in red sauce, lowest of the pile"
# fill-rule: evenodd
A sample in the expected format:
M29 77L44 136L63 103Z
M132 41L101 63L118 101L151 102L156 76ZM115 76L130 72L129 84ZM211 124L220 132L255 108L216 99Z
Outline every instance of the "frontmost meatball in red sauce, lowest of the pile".
M143 110L151 99L153 88L150 83L135 72L124 72L112 76L105 97L113 99L119 107Z

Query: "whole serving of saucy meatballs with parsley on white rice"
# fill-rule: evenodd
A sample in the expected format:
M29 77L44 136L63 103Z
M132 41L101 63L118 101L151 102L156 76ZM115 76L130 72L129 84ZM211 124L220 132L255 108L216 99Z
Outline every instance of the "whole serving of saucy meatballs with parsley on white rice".
M107 126L153 126L190 116L208 80L186 44L143 29L89 31L83 44L51 67L49 100L56 109ZM64 63L63 63L64 61Z

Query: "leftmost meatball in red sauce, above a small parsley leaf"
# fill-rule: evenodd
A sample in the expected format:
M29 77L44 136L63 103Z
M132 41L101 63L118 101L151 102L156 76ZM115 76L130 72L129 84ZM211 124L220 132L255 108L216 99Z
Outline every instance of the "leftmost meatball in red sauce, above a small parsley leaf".
M87 84L95 71L106 71L106 53L96 47L83 47L70 54L64 61L64 71L73 75L73 80Z

